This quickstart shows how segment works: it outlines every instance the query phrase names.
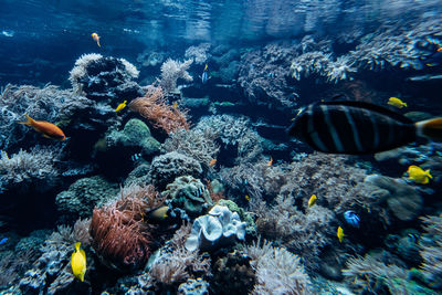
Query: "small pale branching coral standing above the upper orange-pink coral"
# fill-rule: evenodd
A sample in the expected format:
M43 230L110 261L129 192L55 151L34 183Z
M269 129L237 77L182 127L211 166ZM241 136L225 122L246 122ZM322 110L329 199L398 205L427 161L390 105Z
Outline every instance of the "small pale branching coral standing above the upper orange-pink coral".
M167 93L176 91L178 78L192 82L192 76L187 72L192 62L192 60L187 60L181 63L173 61L172 59L168 59L165 63L162 63L160 80L161 88Z

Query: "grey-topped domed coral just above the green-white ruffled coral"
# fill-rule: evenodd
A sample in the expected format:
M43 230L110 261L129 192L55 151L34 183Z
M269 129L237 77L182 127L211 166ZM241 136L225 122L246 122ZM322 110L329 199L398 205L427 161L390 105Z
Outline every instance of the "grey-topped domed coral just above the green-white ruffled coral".
M155 157L150 166L150 179L159 190L179 176L199 177L201 172L201 165L196 159L177 151Z

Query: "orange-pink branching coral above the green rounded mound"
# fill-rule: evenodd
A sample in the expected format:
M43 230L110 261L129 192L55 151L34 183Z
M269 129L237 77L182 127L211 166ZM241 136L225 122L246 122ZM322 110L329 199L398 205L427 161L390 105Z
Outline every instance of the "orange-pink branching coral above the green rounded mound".
M168 134L179 129L189 129L186 113L167 104L161 87L148 86L145 96L131 101L129 108L151 120L155 127L162 128Z

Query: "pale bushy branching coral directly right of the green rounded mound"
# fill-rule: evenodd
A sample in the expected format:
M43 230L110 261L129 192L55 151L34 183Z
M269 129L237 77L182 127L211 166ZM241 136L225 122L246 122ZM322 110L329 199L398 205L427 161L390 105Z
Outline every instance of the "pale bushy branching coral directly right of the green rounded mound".
M220 150L215 143L218 135L211 128L204 130L177 130L170 134L161 146L166 152L178 151L198 160L201 165L209 167L212 159L217 158Z

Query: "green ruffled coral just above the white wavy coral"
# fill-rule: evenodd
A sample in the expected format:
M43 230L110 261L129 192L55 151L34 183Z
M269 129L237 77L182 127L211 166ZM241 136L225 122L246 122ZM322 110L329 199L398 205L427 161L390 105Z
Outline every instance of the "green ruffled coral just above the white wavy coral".
M179 208L192 218L203 214L213 206L208 189L191 176L177 177L161 194L170 199L173 209Z

